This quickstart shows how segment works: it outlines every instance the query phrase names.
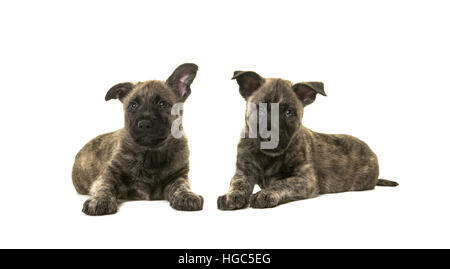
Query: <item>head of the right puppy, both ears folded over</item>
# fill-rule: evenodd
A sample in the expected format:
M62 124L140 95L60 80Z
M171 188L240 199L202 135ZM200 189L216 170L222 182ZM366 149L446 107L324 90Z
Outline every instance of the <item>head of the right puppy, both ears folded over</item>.
M313 103L318 93L326 96L322 82L294 84L283 79L263 78L253 71L235 71L232 79L236 79L239 92L247 101L246 128L252 124L250 119L256 120L257 141L261 143L276 139L262 136L260 118L264 117L270 133L278 134L275 147L261 148L268 155L282 154L289 147L292 138L300 130L303 108ZM278 113L272 111L276 110L273 104L278 105ZM258 112L256 116L252 116L254 111Z

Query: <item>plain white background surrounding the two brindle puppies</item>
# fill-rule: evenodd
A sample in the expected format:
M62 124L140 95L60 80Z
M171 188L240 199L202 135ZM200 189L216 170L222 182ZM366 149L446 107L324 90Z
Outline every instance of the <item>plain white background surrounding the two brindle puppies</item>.
M450 247L445 1L2 1L0 247ZM88 217L75 154L123 125L114 84L199 65L185 105L201 212L126 202ZM304 125L348 133L399 187L224 212L245 103L234 70L319 80Z

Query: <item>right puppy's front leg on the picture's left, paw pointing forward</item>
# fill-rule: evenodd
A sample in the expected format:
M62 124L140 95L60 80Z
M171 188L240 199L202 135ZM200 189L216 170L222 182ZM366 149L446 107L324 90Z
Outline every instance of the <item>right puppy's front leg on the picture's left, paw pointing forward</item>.
M248 206L255 184L239 171L231 179L230 189L217 199L217 208L222 210L242 209Z

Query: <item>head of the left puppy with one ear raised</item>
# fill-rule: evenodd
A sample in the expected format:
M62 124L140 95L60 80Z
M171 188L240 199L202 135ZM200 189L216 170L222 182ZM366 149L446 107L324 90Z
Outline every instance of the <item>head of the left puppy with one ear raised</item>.
M177 115L171 110L191 93L197 74L195 64L180 65L166 81L125 82L113 86L105 100L119 99L125 112L125 129L137 144L150 148L163 145L171 137Z

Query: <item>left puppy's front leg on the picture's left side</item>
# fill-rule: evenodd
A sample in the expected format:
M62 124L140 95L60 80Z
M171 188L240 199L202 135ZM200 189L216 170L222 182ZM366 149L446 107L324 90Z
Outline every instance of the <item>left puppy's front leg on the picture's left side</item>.
M117 212L117 180L114 177L114 168L108 167L94 181L89 191L91 197L84 202L83 212L86 215L98 216Z

